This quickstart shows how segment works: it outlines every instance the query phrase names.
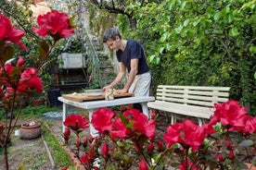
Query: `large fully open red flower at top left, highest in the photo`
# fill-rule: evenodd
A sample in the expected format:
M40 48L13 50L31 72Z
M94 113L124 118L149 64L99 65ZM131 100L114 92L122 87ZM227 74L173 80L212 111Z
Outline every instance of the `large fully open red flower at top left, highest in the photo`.
M32 28L32 30L43 37L50 34L55 41L70 37L74 33L74 28L70 25L69 16L65 13L59 13L57 10L52 10L43 16L39 16L37 23L40 28Z

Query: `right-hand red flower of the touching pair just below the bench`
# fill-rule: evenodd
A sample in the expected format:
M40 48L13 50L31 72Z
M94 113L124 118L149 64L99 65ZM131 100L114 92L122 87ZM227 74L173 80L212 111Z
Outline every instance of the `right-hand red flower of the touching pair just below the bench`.
M191 120L185 120L183 131L185 143L192 147L192 151L197 151L205 138L204 128L199 127Z

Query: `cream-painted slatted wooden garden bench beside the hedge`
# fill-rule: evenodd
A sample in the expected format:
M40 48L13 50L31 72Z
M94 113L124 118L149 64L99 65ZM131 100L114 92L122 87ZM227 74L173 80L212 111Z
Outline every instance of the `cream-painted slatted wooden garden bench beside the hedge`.
M229 99L230 87L171 86L159 85L156 101L147 103L149 109L155 109L176 122L177 115L198 119L202 125L205 119L213 115L214 103L224 103Z

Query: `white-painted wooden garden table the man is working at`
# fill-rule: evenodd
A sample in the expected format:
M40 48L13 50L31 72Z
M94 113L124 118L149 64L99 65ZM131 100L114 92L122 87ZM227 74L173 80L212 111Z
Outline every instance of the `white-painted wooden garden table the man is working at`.
M87 102L73 102L68 99L65 99L63 97L58 97L58 100L63 103L63 116L62 120L65 121L68 113L68 105L72 105L75 107L87 109L89 111L89 120L91 121L93 113L96 111L96 109L100 107L109 107L109 106L115 106L115 105L122 105L122 104L129 104L129 103L140 103L142 105L142 110L147 117L149 117L147 103L155 101L155 97L153 96L140 96L140 97L123 97L123 98L117 98L113 101L106 101L106 100L99 100L99 101L87 101ZM62 127L63 132L65 131L65 126ZM90 133L92 137L98 136L98 132L96 129L90 125Z

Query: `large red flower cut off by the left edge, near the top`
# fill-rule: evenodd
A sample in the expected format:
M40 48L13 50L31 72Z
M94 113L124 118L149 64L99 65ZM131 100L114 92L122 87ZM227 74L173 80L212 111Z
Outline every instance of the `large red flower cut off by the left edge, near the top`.
M18 44L21 50L25 50L26 47L20 42L24 35L23 30L14 28L6 16L0 15L0 41L3 41L4 45L13 42Z

